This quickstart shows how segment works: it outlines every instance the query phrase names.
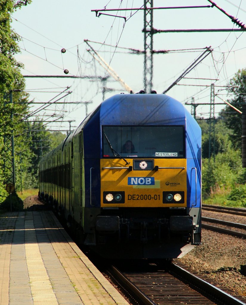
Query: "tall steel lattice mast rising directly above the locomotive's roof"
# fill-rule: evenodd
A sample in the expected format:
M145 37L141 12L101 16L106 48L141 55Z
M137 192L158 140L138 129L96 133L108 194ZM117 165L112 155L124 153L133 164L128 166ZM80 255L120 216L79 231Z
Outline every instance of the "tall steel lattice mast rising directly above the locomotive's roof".
M147 9L149 4L153 8L153 1L144 1L144 91L149 93L152 90L153 78L153 9Z

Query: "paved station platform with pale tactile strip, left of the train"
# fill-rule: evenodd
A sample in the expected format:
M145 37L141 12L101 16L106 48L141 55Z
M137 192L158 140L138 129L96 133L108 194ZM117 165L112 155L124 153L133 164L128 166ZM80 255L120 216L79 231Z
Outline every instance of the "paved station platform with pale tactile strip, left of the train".
M126 305L51 211L0 214L0 305ZM129 305L129 304L128 304Z

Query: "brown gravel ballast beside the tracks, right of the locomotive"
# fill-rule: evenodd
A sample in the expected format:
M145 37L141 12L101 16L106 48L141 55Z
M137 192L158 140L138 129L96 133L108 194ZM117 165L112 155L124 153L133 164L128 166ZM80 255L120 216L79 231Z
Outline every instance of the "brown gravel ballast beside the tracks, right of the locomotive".
M221 213L210 211L203 211L202 215L246 224L244 216L221 216ZM175 262L181 262L192 271L205 275L212 284L230 289L235 295L246 296L246 276L240 272L241 265L246 264L245 239L202 229L202 245L195 246L194 250Z

